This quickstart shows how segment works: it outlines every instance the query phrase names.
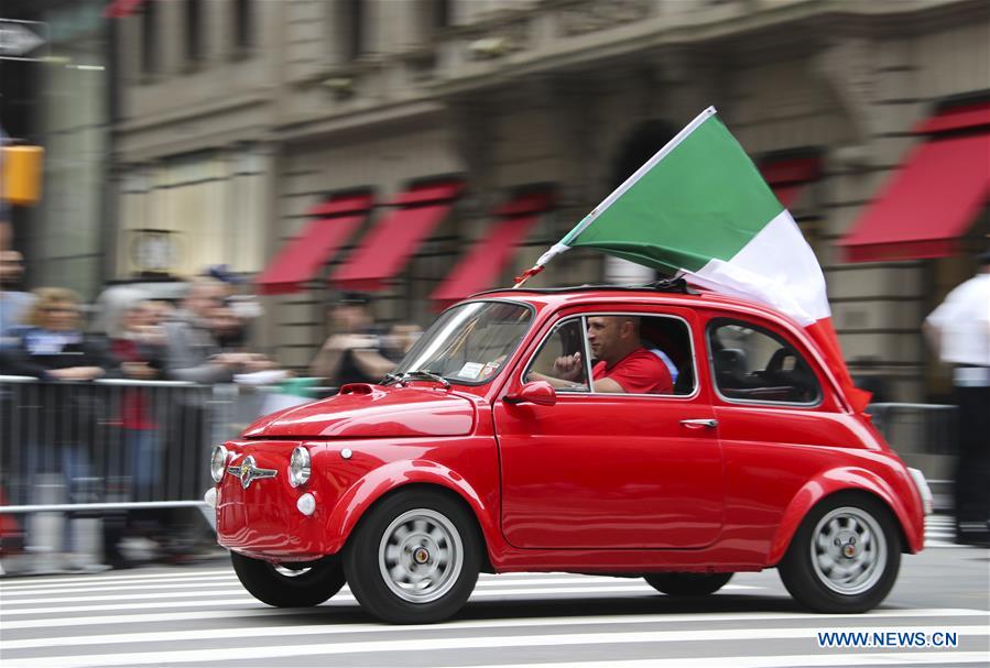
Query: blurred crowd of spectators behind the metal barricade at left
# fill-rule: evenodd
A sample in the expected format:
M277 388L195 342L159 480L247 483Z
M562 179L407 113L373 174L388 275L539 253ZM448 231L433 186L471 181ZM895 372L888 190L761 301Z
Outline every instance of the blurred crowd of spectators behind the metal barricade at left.
M222 267L192 280L176 303L123 287L105 292L95 307L64 287L24 292L21 277L20 254L2 251L0 376L8 382L0 379L0 438L8 442L0 447L0 468L6 471L0 477L0 505L40 503L36 481L44 475L58 481L62 502L175 496L184 478L199 480L204 452L217 437L209 428L216 420L209 414L216 403L213 391L273 383L298 387L302 380L308 381L307 387L377 382L394 369L420 333L413 326L380 330L368 296L344 295L328 310L333 333L313 360L309 377L293 379L274 360L251 350L249 329L261 315L260 305L253 296L239 294L237 277ZM36 401L25 402L25 391L15 391L10 376L34 379ZM87 393L91 381L113 385L112 399ZM166 395L161 392L167 385L164 381L194 384L198 392ZM213 390L205 394L204 387ZM289 397L289 403L311 401L314 393L308 395ZM284 392L270 396L286 398ZM33 413L25 412L28 404ZM255 405L249 418L279 406ZM25 426L29 421L34 426ZM179 462L177 471L174 461ZM118 474L116 490L110 471ZM121 546L134 537L153 544L155 558L181 559L188 551L189 515L153 506L100 513L100 563L89 566L132 566ZM23 549L39 549L32 515L21 517L28 527ZM64 515L59 545L41 548L63 556L67 567L78 557L73 517ZM9 544L0 543L0 556L9 554Z

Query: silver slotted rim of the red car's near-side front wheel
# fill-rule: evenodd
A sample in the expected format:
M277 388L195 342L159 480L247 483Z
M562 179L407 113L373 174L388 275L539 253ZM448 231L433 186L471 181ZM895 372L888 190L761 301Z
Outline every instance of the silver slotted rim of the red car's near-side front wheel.
M454 588L464 567L460 534L436 511L407 511L382 534L378 565L389 590L403 601L436 601Z

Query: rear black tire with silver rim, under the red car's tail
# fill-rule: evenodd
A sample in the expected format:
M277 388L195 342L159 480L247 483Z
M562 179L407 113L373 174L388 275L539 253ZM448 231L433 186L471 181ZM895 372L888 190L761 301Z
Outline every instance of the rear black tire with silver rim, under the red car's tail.
M791 595L824 613L877 607L900 568L901 533L890 510L872 496L850 492L812 508L777 565Z

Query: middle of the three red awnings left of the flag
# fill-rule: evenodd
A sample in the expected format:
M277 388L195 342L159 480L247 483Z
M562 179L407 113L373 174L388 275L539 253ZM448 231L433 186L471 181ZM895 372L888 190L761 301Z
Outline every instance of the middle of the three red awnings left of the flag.
M381 289L444 219L460 189L460 183L450 182L413 187L396 196L389 205L398 208L374 226L330 283L347 289Z

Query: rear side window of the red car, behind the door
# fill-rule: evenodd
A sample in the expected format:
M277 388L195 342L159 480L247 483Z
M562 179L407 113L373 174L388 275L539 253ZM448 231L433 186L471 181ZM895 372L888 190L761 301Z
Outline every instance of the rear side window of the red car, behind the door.
M802 354L776 333L743 320L708 325L715 385L729 401L814 404L818 379Z

